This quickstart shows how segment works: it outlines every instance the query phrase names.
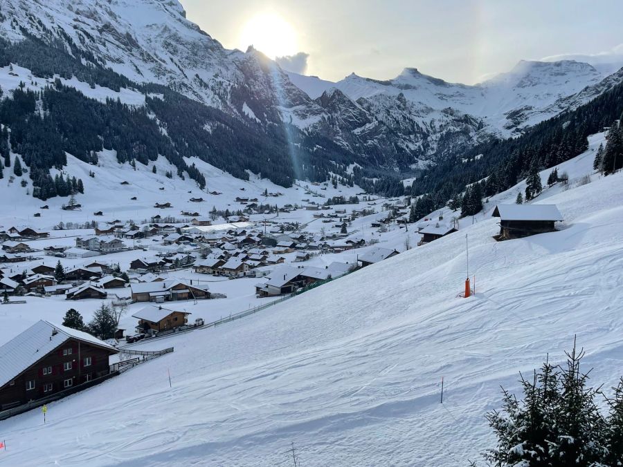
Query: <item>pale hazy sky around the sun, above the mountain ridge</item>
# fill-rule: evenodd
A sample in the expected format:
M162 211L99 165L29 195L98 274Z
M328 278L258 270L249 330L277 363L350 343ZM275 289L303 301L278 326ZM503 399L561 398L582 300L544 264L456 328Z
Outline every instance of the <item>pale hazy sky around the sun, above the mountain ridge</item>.
M623 0L181 0L191 21L226 48L244 25L278 15L300 55L287 66L336 81L403 68L473 84L520 59L615 53L623 57ZM286 62L284 62L286 63Z

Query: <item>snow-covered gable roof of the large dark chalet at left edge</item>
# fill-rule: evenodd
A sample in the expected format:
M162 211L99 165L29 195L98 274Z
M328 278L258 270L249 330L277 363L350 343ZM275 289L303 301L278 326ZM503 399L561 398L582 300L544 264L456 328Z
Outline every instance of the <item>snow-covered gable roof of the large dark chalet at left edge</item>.
M15 379L21 372L69 339L97 345L111 353L118 352L116 348L91 334L42 320L0 347L0 387Z

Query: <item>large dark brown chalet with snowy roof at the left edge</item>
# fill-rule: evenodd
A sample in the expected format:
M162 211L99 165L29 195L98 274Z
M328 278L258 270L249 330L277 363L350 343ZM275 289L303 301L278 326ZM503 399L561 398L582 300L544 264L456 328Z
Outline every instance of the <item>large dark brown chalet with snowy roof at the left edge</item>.
M0 410L104 377L116 353L86 332L39 321L0 347Z

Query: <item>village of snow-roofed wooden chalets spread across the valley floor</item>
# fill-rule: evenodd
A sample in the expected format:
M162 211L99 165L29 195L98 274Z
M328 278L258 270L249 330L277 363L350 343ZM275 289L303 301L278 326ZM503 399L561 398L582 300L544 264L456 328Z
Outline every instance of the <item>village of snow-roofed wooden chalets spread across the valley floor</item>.
M264 188L261 201L230 195L225 209L210 204L222 192L186 202L177 193L176 201L136 211L139 221L107 218L101 203L89 215L81 202L69 209L71 220L44 225L35 216L30 224L3 225L0 315L22 338L0 350L28 354L28 346L48 334L54 342L60 335L65 348L55 346L36 361L17 359L6 370L12 377L0 381L0 414L64 397L172 352L166 336L206 327L218 332L218 325L456 234L469 222L447 208L409 222L409 198L379 198L356 187L293 188L288 194ZM563 220L555 206L507 202L491 204L480 217L491 216L500 218L500 230L491 231L496 240L554 231ZM27 311L33 308L41 311ZM70 309L88 323L103 308L114 309L109 339L60 325ZM28 313L33 318L21 318ZM153 343L145 350L147 341Z

